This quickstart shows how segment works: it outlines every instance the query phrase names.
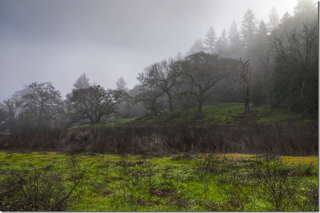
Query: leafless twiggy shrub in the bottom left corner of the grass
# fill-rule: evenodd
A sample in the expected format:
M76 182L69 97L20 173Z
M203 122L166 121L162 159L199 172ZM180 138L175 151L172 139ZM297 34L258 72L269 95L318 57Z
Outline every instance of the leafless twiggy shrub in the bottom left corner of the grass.
M66 211L72 193L83 178L84 171L68 186L63 173L33 165L21 170L5 170L0 183L1 211Z

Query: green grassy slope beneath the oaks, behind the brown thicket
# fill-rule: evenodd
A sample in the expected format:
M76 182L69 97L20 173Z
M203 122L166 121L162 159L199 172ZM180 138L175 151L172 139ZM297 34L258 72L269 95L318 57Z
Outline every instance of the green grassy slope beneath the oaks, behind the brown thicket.
M312 116L306 112L291 112L282 108L274 108L271 110L269 106L255 106L250 105L251 112L247 115L244 114L244 105L241 103L214 103L212 105L203 106L203 114L198 117L194 125L226 125L226 124L243 124L257 123L257 124L304 124L315 122ZM147 116L143 119L126 118L116 119L112 121L104 121L99 124L82 125L74 128L101 128L101 127L116 127L127 125L149 126L149 125L168 125L174 122L184 122L186 119L192 120L195 115L196 107L189 108L180 113L170 113L168 110L158 113L157 116Z

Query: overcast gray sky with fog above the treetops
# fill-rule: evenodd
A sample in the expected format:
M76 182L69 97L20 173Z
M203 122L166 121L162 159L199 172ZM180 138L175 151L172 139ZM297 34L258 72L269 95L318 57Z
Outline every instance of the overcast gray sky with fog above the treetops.
M217 37L247 9L281 19L297 0L0 0L0 101L32 82L50 81L63 97L86 73L91 83L130 88L137 74L184 55L212 25Z

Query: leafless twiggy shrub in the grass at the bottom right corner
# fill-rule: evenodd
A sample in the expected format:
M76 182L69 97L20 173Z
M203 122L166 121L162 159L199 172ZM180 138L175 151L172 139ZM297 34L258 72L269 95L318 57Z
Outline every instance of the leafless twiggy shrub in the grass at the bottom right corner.
M315 192L314 185L308 187L311 181L306 183L297 175L299 172L295 170L299 170L299 167L292 168L282 158L260 157L256 162L259 164L255 164L251 171L256 177L258 187L255 187L260 199L267 201L272 211L318 209L318 202L315 201L318 199L318 191ZM300 189L304 189L305 197L301 196Z

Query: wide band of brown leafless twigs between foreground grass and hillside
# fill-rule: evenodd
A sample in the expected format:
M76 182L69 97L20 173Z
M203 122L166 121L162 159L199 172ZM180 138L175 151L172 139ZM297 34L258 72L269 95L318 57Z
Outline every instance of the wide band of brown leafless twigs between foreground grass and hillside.
M304 156L318 154L318 125L29 130L0 135L0 149L158 155L192 151Z

